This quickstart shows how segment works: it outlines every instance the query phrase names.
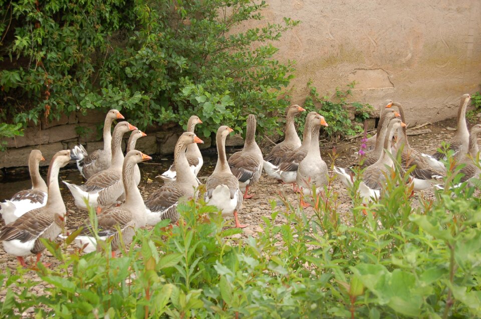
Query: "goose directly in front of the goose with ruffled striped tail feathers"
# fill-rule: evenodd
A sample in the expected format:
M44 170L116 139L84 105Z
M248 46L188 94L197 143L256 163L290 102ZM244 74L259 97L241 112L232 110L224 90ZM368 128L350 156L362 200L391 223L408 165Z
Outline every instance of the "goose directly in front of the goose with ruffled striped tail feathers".
M107 208L114 204L123 194L122 163L124 154L121 148L122 135L134 129L137 129L137 127L126 121L115 125L112 138L112 161L108 169L92 175L83 185L75 185L65 180L63 181L72 193L77 207L88 210L85 202L87 198L89 206Z

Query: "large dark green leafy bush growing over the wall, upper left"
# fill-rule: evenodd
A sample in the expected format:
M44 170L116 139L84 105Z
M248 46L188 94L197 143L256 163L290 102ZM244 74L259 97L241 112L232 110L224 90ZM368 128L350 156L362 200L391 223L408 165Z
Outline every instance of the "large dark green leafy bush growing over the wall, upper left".
M0 120L22 123L90 108L122 109L140 127L186 124L237 131L248 113L262 129L284 108L293 62L273 45L299 23L234 31L261 20L265 1L11 1L0 7ZM238 28L237 28L238 29Z

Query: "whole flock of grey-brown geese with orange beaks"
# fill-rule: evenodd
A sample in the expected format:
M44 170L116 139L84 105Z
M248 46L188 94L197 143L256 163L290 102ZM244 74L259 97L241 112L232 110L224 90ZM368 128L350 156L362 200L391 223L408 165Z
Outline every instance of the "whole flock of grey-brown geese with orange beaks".
M469 94L461 96L457 132L449 141L456 162L463 163L461 182L469 182L481 173L473 158L478 156L477 135L481 124L467 128L465 112ZM394 109L396 108L396 109ZM299 105L287 108L285 139L263 156L256 142L256 117L249 114L244 148L228 159L225 153L226 137L232 129L226 125L218 127L216 133L217 163L205 183L204 200L216 206L222 216L233 216L235 227L246 227L239 222L238 212L243 200L251 198L249 187L255 184L264 170L267 175L282 183L292 183L294 191L300 193L300 204L304 207L305 195L319 194L328 183L329 171L321 157L319 134L322 126L328 126L325 118L309 112L305 119L303 139L299 138L294 124L295 116L306 111ZM96 225L86 220L78 230L75 244L85 252L98 249L98 240L109 239L112 253L123 243L132 242L135 230L146 225L155 225L163 219L176 223L179 219L177 204L181 200L197 198L199 180L197 174L202 167L202 154L198 143L203 141L194 133L195 125L202 121L196 115L189 118L187 131L177 140L174 162L161 177L162 187L148 198L143 198L138 189L141 179L138 163L152 157L135 149L138 138L146 134L127 121L118 122L111 133L114 120L124 119L116 109L107 112L103 130L103 149L87 153L82 145L72 150L60 150L52 158L47 183L39 173L39 162L44 160L39 150L29 157L32 188L16 193L10 200L0 203L6 225L0 229L0 241L7 253L14 255L26 266L24 257L37 254L37 261L45 249L41 238L55 240L64 238L66 208L59 187L59 170L70 160L76 160L78 169L86 182L75 185L64 181L71 191L75 204L80 209L93 208L97 211ZM127 152L121 149L122 136L131 131ZM397 138L394 138L397 132ZM360 178L359 194L363 202L376 199L387 178L392 178L390 169L393 158L401 152L402 172L409 172L408 182L413 190L423 190L433 185L442 188L439 181L446 173L443 163L445 154L436 151L432 155L413 149L406 135L404 110L400 103L386 100L381 107L376 133L363 139L359 157L350 167L334 166L334 172L342 183L351 188ZM359 171L360 173L354 173ZM74 229L75 230L75 229Z

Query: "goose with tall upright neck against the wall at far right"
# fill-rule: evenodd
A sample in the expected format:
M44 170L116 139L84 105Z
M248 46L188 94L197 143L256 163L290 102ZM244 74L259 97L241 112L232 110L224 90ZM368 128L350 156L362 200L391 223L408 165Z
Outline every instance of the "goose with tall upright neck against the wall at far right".
M469 144L469 130L466 124L466 108L471 96L469 94L463 94L461 96L461 101L459 102L459 108L457 110L457 131L454 136L449 141L449 149L454 151L453 156L457 158L462 158L468 149ZM446 159L445 154L436 151L431 155L435 159Z

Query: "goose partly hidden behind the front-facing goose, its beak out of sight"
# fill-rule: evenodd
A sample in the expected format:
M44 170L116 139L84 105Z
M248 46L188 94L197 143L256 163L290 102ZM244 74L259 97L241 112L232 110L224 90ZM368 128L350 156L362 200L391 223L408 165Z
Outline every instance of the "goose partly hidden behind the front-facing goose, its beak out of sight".
M296 176L299 163L306 157L309 145L311 143L311 128L314 117L317 112L309 112L306 116L306 123L304 125L304 132L302 137L301 147L289 153L283 161L279 164L278 173L284 183L293 184L293 189L296 190Z

